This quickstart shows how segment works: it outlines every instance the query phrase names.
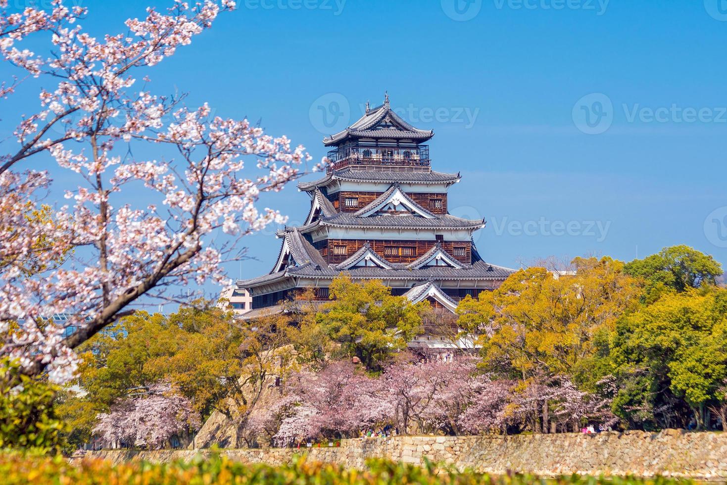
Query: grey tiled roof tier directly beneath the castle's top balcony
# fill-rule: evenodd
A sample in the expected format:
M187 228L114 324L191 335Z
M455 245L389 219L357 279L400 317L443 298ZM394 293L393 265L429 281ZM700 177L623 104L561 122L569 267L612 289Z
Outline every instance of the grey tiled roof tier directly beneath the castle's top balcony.
M372 183L411 183L411 184L435 184L435 183L456 183L461 177L459 174L446 174L443 172L394 172L379 170L352 170L350 167L331 172L325 177L313 180L312 182L300 182L298 188L301 191L311 191L316 187L325 187L333 180L346 180L350 182L372 182Z

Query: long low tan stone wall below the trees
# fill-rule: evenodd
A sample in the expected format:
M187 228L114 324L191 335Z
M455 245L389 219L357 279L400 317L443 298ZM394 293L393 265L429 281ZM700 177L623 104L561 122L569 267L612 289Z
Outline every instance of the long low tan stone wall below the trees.
M209 450L92 452L114 462L188 460ZM502 474L507 470L540 476L636 475L727 478L727 433L582 433L518 436L397 436L342 440L340 447L310 449L226 449L222 454L242 462L288 462L296 454L309 460L363 468L367 458L382 457L422 465L424 457L460 470Z

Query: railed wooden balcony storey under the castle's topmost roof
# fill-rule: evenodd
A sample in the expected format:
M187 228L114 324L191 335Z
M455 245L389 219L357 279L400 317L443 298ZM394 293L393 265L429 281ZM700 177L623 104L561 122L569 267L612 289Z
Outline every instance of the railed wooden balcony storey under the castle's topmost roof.
M416 147L382 147L364 143L347 143L328 152L328 171L350 167L353 170L395 170L429 172L429 145Z

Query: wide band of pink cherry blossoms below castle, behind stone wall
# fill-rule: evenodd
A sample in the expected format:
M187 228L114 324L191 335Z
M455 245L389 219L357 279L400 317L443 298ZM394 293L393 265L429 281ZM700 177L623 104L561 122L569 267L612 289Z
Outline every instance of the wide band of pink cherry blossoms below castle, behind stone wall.
M494 380L473 358L403 359L370 377L349 361L322 372L299 372L286 384L284 417L274 441L356 436L391 425L400 433L488 433L524 428L531 410L545 402L553 422L607 422L608 401L577 390L567 377L552 382ZM279 412L280 410L278 410Z

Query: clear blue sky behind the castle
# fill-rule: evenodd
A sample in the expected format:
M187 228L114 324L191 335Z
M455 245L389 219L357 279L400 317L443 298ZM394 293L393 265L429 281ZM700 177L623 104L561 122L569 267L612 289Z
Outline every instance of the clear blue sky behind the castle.
M151 91L261 119L319 159L321 138L387 90L405 119L434 129L433 168L462 172L450 212L486 218L475 241L489 262L632 260L688 244L725 264L720 1L248 0L153 68ZM124 31L147 4L84 0L82 25ZM23 100L37 92L11 103ZM294 185L268 202L292 223L309 207ZM246 240L257 260L244 277L270 270L272 233Z

